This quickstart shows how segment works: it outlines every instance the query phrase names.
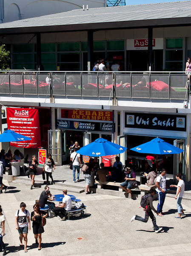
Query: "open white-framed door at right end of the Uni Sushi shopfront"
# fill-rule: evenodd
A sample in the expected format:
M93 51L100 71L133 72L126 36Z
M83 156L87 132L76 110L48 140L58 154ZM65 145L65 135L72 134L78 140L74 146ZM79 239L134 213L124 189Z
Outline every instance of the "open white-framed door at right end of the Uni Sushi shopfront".
M174 146L184 150L180 154L174 154L174 179L177 173L182 174L185 180L186 168L185 168L185 140L174 140Z

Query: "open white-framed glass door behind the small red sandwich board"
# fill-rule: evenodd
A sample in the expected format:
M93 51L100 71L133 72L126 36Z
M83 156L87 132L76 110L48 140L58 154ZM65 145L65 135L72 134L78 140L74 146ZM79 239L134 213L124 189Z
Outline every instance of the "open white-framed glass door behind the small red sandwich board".
M62 164L60 130L48 130L48 152L51 153L56 165Z

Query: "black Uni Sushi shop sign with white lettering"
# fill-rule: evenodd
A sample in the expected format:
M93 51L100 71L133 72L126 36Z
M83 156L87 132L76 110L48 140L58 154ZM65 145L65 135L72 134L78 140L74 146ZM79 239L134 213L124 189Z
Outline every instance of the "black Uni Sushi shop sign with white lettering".
M125 113L125 127L185 132L186 116Z

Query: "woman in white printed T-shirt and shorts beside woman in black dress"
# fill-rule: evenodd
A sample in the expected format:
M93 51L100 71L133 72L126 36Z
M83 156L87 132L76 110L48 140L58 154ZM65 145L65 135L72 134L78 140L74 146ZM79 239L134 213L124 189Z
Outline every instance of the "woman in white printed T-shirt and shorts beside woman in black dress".
M19 232L20 247L23 247L24 240L24 251L27 253L27 234L31 230L30 213L26 210L26 204L20 203L20 210L15 213L15 226Z

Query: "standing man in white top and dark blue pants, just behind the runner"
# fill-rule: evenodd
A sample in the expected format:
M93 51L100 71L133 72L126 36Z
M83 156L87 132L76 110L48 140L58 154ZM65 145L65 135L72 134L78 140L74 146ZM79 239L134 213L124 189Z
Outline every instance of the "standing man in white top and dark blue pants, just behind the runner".
M159 213L158 216L162 217L162 206L165 201L165 196L166 196L166 170L162 168L161 174L157 177L156 181L156 187L157 187L157 196L158 196L158 205L157 205L157 212Z

